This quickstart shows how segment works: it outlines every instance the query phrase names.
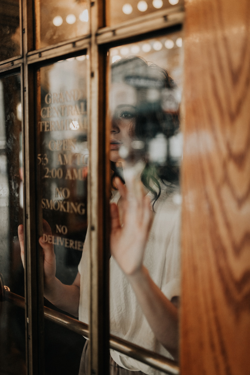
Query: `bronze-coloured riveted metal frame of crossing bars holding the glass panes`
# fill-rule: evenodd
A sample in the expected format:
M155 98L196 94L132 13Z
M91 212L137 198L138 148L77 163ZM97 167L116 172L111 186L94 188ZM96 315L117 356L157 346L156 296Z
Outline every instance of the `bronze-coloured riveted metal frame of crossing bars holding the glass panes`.
M88 50L88 116L90 118L90 172L88 179L88 221L91 226L91 291L90 291L90 374L109 374L109 347L125 350L136 357L133 345L113 342L109 336L108 298L108 227L109 212L109 150L105 127L107 52L113 45L128 43L128 40L146 39L155 32L167 32L169 27L183 24L183 6L157 10L118 24L105 27L105 0L90 3L90 34L66 40L46 48L35 49L36 23L35 0L19 0L22 54L0 62L0 74L21 72L22 132L24 160L24 241L25 241L25 332L27 374L44 374L43 364L43 270L42 252L36 249L39 227L36 222L35 191L35 131L34 108L36 105L36 76L38 66L55 62L62 57L71 57ZM81 324L81 323L79 323ZM82 323L84 326L84 324ZM112 341L113 340L113 341ZM120 347L119 347L120 345ZM129 349L130 348L130 349ZM138 360L144 361L146 352L141 348ZM143 354L144 353L144 354ZM145 358L144 358L145 357ZM155 355L157 358L157 354ZM154 360L154 359L153 359ZM154 362L154 361L153 361ZM163 360L164 362L164 360ZM145 363L147 361L145 360ZM169 372L166 370L166 366ZM160 367L171 373L171 361L166 359ZM178 367L172 364L172 374Z

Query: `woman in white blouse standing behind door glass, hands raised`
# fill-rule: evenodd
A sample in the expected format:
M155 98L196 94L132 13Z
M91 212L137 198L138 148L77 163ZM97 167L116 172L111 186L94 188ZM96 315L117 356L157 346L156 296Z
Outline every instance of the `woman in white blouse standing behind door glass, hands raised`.
M138 57L112 66L110 327L116 336L177 358L180 206L172 200L178 167L169 162L166 140L178 130L178 116L163 113L157 91L164 88L174 88L167 72ZM159 145L152 146L157 139L161 139L161 153ZM51 234L46 222L44 232ZM22 226L18 235L23 259ZM79 313L79 320L85 323L89 310L88 238L89 231L72 285L55 278L53 246L39 239L44 252L45 298L72 315ZM114 350L110 363L111 374L157 374ZM79 374L87 374L87 364L85 345Z

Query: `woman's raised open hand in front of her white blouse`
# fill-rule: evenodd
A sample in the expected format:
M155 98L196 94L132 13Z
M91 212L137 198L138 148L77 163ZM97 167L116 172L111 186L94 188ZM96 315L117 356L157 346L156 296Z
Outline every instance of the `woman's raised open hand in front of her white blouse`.
M118 177L115 183L121 194L122 213L119 204L111 204L111 254L126 275L133 275L142 267L152 219L150 200L141 181L130 181L128 188Z

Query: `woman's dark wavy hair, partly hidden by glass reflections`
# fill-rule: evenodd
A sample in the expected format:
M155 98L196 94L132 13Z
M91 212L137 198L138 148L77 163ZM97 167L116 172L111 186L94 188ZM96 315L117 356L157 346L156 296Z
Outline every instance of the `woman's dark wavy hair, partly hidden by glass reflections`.
M145 90L150 88L161 90L164 88L175 89L177 87L165 69L136 56L123 58L113 63L111 66L111 80L112 82L123 81L135 87L138 93L140 92L140 96L143 96ZM141 155L145 160L141 181L153 194L153 206L161 194L160 181L168 186L169 184L178 184L179 165L171 160L169 154L164 165L147 160L145 155L148 150L148 142L159 133L163 134L168 140L178 132L179 125L179 111L172 113L163 111L160 99L153 103L149 103L146 100L141 100L137 103L133 134L135 138L144 141L145 144ZM111 162L111 169L112 187L115 188L114 177L118 176L123 180L123 174L122 170L117 168L114 162Z

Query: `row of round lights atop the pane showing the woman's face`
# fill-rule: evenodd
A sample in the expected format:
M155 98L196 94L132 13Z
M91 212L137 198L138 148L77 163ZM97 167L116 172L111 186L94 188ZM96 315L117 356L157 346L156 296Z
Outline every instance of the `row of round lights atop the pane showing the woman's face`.
M174 40L172 39L166 39L165 42L164 42L164 46L167 48L167 49L172 49L174 47L174 45L177 45L177 47L181 47L182 46L182 38L181 37L178 37L175 42ZM112 51L112 63L114 63L115 61L119 60L121 58L121 56L128 56L130 53L132 55L136 55L140 52L140 50L142 50L142 52L150 52L151 49L153 48L154 51L160 51L163 47L163 43L160 42L160 40L156 40L153 45L151 45L150 43L144 43L142 44L141 48L139 47L139 45L135 44L135 45L132 45L130 48L129 47L122 47L120 49L120 51L118 49L113 49Z

